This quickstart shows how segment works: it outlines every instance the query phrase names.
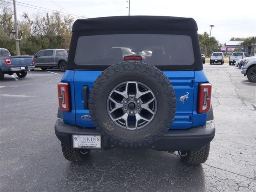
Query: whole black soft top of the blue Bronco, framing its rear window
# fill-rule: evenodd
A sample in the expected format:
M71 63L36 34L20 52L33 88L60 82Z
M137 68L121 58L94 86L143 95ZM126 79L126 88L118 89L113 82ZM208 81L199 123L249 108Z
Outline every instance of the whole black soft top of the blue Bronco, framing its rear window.
M194 63L192 65L157 66L160 70L202 70L202 56L193 18L169 16L113 16L76 20L72 28L72 39L68 55L67 70L104 70L108 65L77 65L74 62L78 39L82 36L108 34L174 34L190 36ZM184 53L185 55L186 53Z

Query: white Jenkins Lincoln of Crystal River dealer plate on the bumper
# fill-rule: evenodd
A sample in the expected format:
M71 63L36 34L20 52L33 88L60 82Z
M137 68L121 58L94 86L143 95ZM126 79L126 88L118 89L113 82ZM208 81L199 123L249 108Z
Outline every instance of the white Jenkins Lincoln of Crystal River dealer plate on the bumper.
M73 135L73 148L100 149L100 135Z

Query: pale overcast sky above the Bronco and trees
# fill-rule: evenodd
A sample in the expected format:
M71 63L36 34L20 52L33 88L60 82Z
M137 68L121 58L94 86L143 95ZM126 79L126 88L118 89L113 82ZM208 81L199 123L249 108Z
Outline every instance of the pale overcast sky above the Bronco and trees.
M6 1L12 2L12 0ZM94 18L128 15L128 1L16 0L16 8L18 17L22 15L22 12L29 14L44 12L24 7L28 6L26 4L31 4L86 18ZM210 25L214 25L212 36L222 44L231 37L256 36L256 0L130 0L130 15L192 17L198 24L198 33L210 33Z

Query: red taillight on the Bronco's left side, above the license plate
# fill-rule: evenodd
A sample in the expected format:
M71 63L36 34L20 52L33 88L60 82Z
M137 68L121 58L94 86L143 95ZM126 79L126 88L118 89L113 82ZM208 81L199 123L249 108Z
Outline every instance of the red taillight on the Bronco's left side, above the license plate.
M63 111L70 111L70 90L68 83L58 83L59 106Z

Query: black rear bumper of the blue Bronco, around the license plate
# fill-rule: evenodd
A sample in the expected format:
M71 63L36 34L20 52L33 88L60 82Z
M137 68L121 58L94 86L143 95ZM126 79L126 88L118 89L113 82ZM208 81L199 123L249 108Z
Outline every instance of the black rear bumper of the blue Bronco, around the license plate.
M72 148L72 134L76 135L101 135L96 129L81 128L66 124L58 119L54 126L57 138L66 146ZM168 130L162 138L144 148L152 148L158 151L182 151L200 150L208 145L215 136L215 125L208 121L204 126L193 127L186 130ZM119 146L110 143L108 138L101 136L102 149L108 150Z

